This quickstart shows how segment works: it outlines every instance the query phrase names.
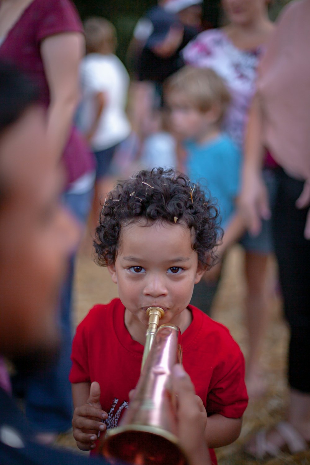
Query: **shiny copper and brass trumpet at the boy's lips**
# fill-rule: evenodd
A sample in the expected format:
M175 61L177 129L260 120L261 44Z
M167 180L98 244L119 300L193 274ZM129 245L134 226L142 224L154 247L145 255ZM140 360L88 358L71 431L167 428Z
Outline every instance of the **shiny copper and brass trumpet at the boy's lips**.
M106 433L102 453L136 465L187 465L167 390L171 368L182 362L178 326L158 328L163 309L150 307L141 375L119 426ZM158 329L157 329L158 328Z

